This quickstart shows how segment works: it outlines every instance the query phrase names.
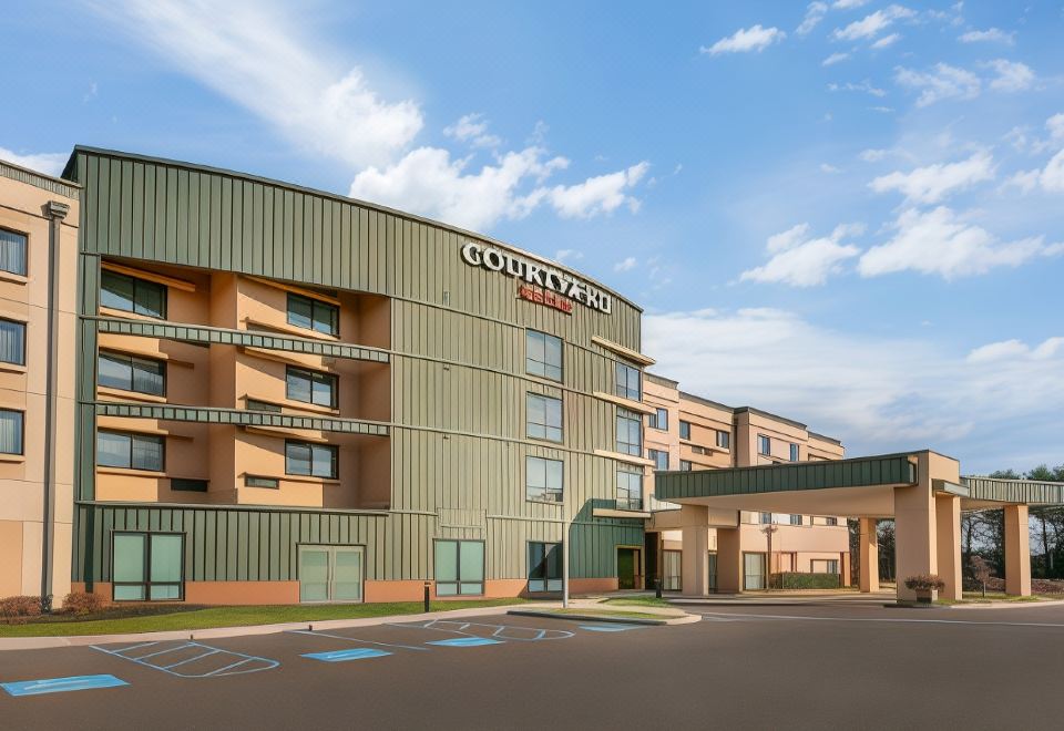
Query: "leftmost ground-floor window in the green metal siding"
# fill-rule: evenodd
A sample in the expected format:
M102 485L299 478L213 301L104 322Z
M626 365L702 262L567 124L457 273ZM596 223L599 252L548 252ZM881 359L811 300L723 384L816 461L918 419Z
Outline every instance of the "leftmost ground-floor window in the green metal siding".
M184 597L184 536L115 533L111 581L115 601L180 601Z

